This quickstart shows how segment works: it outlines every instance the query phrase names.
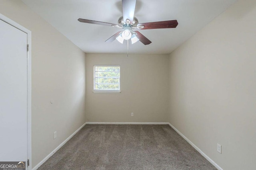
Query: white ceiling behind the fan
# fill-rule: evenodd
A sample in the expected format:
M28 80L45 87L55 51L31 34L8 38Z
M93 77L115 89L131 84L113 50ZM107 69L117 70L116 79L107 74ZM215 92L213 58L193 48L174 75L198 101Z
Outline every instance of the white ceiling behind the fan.
M105 42L121 28L78 21L83 18L117 24L122 16L122 0L22 1L86 53L127 52L125 42ZM140 30L152 43L129 44L129 53L169 54L236 1L137 0L134 16L139 23L178 20L179 24L176 28Z

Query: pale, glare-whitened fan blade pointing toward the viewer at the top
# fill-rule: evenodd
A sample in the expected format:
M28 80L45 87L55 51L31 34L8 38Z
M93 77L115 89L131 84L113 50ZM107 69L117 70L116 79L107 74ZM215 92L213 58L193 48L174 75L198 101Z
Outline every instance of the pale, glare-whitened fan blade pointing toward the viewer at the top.
M122 6L124 21L126 22L126 20L129 19L130 23L132 23L135 12L136 0L122 0Z

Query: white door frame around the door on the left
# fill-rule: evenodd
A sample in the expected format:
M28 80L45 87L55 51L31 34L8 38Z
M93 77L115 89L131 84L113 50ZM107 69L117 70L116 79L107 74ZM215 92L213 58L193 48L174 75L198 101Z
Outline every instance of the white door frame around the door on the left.
M29 166L27 166L27 170L32 169L32 143L31 143L31 31L23 27L22 25L16 23L15 21L7 18L6 16L0 14L0 20L20 29L21 31L27 33L27 44L28 44L28 51L27 51L27 84L28 84L28 91L27 91L27 116L28 116L28 159L29 159Z

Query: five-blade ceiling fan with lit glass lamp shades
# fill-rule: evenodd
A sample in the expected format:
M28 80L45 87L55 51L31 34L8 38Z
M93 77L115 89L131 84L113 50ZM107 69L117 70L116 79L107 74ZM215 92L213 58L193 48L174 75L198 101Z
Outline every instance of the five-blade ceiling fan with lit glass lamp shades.
M122 0L123 16L118 19L118 25L114 23L86 20L81 18L79 18L78 21L124 29L124 31L119 31L112 35L112 37L107 39L105 42L112 42L117 39L120 43L123 43L124 40L131 39L132 44L140 41L144 45L148 45L152 42L142 35L142 33L139 31L133 31L133 29L176 28L178 25L177 20L138 23L138 19L134 17L135 6L136 0Z

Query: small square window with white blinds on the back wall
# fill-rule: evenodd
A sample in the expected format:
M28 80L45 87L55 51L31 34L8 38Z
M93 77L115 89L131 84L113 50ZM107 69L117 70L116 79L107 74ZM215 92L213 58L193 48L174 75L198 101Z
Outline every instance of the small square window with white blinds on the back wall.
M94 65L94 93L120 93L120 66Z

